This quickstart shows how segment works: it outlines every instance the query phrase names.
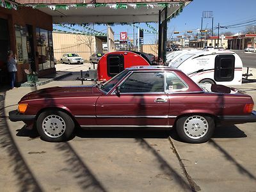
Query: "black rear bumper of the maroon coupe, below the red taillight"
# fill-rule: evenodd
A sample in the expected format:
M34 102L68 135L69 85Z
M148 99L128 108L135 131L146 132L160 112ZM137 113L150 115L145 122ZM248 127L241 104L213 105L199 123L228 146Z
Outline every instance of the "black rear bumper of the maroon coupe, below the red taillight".
M232 115L218 116L219 124L245 124L256 122L256 111L252 111L251 115Z

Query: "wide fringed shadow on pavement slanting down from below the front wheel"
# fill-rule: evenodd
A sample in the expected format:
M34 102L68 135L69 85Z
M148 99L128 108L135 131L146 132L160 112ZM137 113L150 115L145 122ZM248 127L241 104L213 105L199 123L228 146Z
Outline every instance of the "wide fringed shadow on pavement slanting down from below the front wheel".
M77 184L81 189L84 191L106 191L68 142L58 143L56 148L63 152L63 155L66 157L65 162L69 166L70 171L74 173Z

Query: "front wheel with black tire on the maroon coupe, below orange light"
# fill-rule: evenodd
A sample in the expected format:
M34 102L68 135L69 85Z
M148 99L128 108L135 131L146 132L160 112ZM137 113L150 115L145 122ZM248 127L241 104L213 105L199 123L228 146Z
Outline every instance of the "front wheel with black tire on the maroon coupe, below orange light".
M54 122L56 123L54 124ZM36 129L42 140L49 142L67 141L72 136L74 128L74 121L67 113L54 109L43 111L36 121ZM56 132L52 130L56 130ZM50 136L50 134L52 135Z

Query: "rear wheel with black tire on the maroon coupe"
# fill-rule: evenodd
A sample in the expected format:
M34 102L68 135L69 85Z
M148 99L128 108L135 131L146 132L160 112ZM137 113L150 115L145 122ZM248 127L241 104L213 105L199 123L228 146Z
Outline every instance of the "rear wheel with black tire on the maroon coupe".
M199 125L193 124L198 120ZM202 121L202 124L200 123ZM206 124L206 123L207 124ZM190 125L190 126L189 126ZM203 130L201 125L207 126L207 131ZM195 127L196 126L196 127ZM211 139L211 136L214 132L214 120L210 116L204 115L188 115L180 117L176 122L176 131L182 139L186 143L204 143ZM193 130L192 130L193 129ZM187 131L186 131L187 130ZM201 136L192 135L196 131L197 134L202 134ZM198 132L197 132L198 131ZM190 133L190 136L188 136Z

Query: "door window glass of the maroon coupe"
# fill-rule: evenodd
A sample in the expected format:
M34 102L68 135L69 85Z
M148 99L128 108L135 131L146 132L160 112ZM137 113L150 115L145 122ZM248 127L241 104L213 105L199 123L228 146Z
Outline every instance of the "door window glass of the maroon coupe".
M163 93L164 72L134 72L120 86L120 93Z

